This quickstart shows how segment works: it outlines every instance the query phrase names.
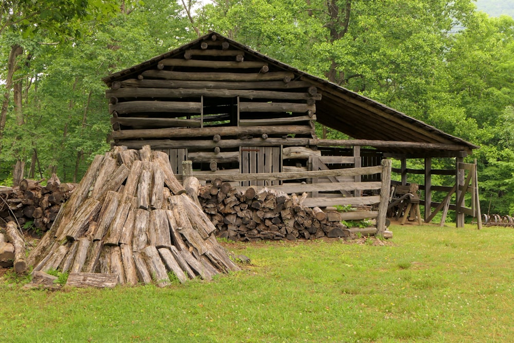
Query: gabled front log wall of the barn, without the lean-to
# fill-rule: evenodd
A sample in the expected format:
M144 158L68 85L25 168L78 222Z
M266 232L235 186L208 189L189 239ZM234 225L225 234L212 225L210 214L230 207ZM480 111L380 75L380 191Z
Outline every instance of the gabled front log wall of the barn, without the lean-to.
M279 172L282 146L316 137L317 88L215 34L110 86L114 145L167 152L177 174L182 160L202 171L242 173L246 163L246 172ZM254 163L242 160L245 147L260 151ZM279 153L266 167L269 147Z

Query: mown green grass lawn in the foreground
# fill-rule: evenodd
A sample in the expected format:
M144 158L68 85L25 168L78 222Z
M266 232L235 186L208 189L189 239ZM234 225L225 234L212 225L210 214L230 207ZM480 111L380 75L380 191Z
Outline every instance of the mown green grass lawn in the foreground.
M5 342L502 342L514 337L514 229L392 226L385 246L224 244L244 271L113 290L0 281Z

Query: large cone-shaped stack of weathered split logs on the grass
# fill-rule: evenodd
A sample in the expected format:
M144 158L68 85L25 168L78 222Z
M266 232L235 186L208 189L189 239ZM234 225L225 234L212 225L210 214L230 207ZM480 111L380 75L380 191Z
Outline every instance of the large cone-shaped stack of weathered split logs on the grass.
M101 273L120 284L166 286L168 272L181 282L210 280L239 269L215 230L173 175L166 153L116 147L95 157L27 263L74 280Z

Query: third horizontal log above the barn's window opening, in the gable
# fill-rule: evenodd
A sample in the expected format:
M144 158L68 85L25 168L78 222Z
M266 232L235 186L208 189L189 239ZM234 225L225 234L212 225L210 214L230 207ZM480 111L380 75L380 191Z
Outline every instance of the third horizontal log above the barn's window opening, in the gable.
M277 81L295 75L289 71L275 71L273 73L191 73L183 71L168 70L146 70L143 71L144 78L163 79L163 80L191 80L191 81ZM234 82L235 83L235 82Z

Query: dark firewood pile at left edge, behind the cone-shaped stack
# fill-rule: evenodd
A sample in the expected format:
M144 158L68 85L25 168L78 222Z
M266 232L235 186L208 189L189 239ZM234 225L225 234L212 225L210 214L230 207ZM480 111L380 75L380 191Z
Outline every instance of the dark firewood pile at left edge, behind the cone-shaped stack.
M68 200L76 184L61 183L56 174L41 186L40 181L22 179L19 186L0 192L0 224L14 221L23 227L27 222L45 232L56 220L62 203Z

